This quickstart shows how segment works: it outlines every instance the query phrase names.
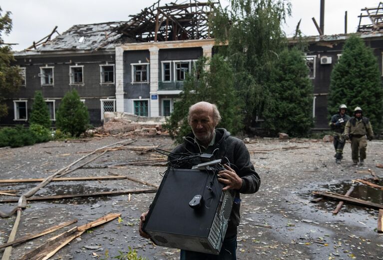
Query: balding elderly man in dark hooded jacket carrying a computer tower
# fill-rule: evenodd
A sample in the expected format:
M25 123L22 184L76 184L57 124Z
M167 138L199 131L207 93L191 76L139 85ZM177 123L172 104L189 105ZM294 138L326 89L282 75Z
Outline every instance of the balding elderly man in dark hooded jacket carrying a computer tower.
M258 191L261 180L250 162L250 154L245 144L230 136L226 129L215 127L221 120L217 107L208 102L198 102L189 108L188 122L193 133L184 138L172 153L210 153L216 158L224 158L225 170L218 173L218 180L225 184L224 190L236 191L225 239L218 256L181 250L180 260L236 260L237 227L240 222L240 193L251 194ZM226 160L226 161L225 161ZM191 168L192 165L184 165ZM147 212L141 215L140 235L149 238L142 231Z

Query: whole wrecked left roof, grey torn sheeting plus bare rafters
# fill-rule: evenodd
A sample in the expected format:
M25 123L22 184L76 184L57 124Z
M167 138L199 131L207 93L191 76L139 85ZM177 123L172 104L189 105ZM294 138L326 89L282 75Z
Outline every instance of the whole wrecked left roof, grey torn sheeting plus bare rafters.
M129 21L73 25L61 35L55 27L46 37L24 51L97 51L131 42L173 41L211 38L209 16L219 2L188 0L159 6L157 1Z

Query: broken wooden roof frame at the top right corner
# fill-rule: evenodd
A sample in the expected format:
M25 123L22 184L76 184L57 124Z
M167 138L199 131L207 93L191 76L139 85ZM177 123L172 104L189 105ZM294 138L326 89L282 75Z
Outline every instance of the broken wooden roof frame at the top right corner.
M361 9L365 14L359 15L358 32L373 32L383 30L383 2L380 2L378 7ZM367 24L362 24L368 20Z

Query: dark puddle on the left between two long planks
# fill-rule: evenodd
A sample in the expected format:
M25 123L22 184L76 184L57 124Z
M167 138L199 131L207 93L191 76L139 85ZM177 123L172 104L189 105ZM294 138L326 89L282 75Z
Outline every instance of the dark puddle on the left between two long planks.
M97 192L108 192L113 191L114 189L108 189L105 187L94 187L94 186L84 186L84 185L49 185L45 187L41 192L36 194L36 196L54 196L54 195L77 195L77 194L89 194ZM95 196L95 197L77 197L70 199L57 199L49 200L47 202L56 203L56 204L94 204L99 201L109 201L111 196Z

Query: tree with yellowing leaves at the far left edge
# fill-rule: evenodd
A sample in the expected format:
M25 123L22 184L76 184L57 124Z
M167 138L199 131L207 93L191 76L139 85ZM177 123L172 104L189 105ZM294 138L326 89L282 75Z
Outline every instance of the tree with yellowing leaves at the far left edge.
M21 85L20 69L11 66L14 58L10 47L2 39L2 35L9 34L12 29L10 12L7 11L4 15L1 12L0 7L0 117L8 114L8 108L3 103L5 95L16 92Z

